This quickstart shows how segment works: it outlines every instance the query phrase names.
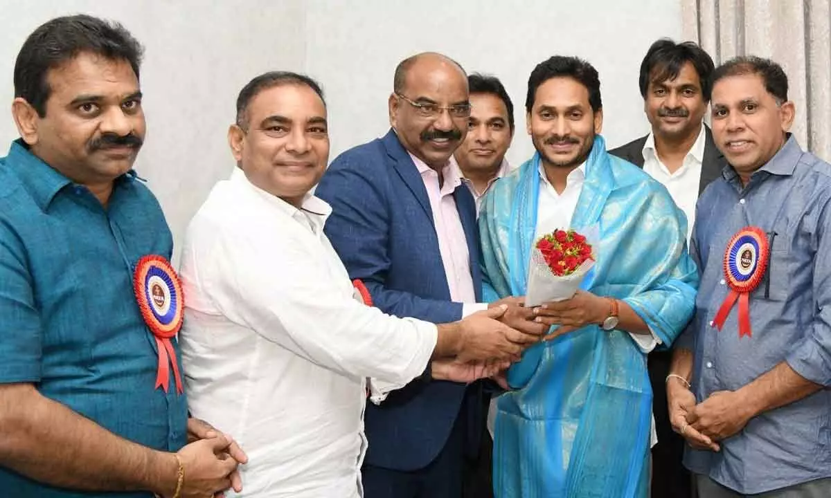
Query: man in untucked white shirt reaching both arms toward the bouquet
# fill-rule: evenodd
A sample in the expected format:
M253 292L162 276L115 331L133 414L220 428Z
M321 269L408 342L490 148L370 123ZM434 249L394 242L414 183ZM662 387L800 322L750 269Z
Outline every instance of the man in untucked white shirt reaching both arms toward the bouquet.
M329 152L322 90L266 73L237 111L238 168L184 241L189 408L238 435L244 496L356 498L367 385L380 402L430 374L472 381L538 337L494 320L504 308L436 326L359 302L322 232L331 208L309 193Z

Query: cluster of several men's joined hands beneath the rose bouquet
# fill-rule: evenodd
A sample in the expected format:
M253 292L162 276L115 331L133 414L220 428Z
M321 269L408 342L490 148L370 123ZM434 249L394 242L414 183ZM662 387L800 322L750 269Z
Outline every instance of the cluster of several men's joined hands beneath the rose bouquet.
M434 359L433 378L461 383L494 378L508 388L504 371L525 349L543 340L598 324L609 311L606 298L578 291L571 299L525 307L524 297L506 297L461 320L463 344L455 358ZM550 334L552 325L559 325Z

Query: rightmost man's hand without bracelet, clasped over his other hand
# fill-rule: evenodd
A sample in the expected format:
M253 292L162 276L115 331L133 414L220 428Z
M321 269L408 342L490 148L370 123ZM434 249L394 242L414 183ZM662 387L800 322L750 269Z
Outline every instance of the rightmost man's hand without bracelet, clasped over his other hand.
M687 422L701 434L721 441L747 425L753 417L748 407L737 391L716 391L691 409Z

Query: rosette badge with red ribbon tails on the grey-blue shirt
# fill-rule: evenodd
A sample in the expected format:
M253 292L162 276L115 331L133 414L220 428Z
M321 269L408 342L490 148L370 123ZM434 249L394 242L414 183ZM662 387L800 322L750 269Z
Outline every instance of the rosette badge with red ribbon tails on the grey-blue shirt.
M750 293L755 291L765 276L770 247L760 228L744 227L736 233L725 250L725 281L730 294L721 303L713 325L721 330L735 301L739 301L739 337L751 337Z

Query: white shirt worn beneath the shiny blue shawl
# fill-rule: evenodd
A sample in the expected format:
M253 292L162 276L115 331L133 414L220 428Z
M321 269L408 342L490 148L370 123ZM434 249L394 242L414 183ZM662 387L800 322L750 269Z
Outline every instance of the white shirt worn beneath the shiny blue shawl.
M543 164L539 164L539 176L542 183L539 188L539 200L537 203L537 229L534 238L542 237L546 233L551 233L556 229L568 230L571 228L572 218L574 212L577 210L577 203L580 199L580 193L583 192L583 183L586 181L586 164L580 164L574 168L571 173L568 173L566 178L566 188L563 193L557 193L554 186L548 182L548 177L545 175L545 168ZM644 352L649 353L655 346L659 344L661 339L653 332L651 334L629 334L638 347ZM650 442L655 446L658 442L657 433L655 432L655 417L652 417L652 428L650 429Z

